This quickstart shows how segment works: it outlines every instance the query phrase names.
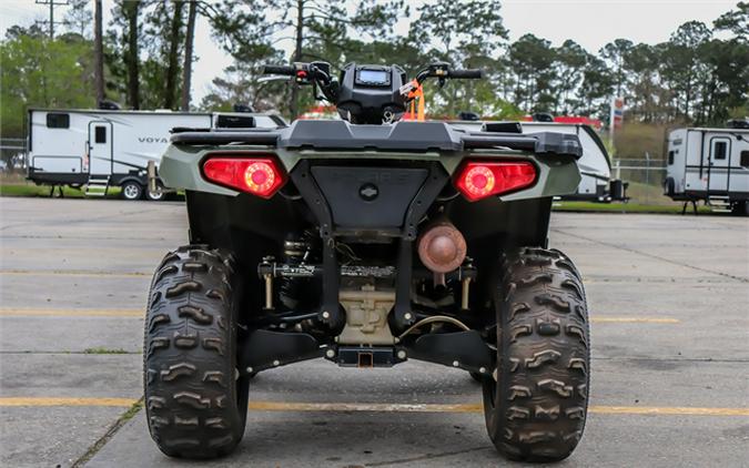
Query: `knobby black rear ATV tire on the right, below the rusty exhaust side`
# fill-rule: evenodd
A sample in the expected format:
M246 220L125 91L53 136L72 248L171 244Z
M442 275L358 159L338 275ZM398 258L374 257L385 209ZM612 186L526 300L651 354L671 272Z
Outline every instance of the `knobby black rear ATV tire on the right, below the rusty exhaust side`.
M563 460L583 436L588 407L583 282L567 256L544 248L504 256L502 271L497 370L483 385L486 427L512 460Z

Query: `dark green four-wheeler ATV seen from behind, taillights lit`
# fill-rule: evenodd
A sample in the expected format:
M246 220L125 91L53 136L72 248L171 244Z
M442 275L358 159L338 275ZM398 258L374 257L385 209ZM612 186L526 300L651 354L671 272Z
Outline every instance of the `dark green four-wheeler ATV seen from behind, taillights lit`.
M547 235L553 197L580 180L577 136L404 119L415 101L423 109L428 79L479 70L265 71L310 84L342 119L171 136L160 174L185 191L190 244L163 258L148 302L145 410L159 448L231 452L257 373L418 359L480 380L505 457L568 457L587 414L587 307L580 273Z

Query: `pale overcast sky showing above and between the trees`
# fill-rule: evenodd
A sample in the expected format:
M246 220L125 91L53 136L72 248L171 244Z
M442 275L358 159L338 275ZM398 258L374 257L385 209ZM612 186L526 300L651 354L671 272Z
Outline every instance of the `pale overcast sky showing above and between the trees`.
M55 0L63 1L63 0ZM459 0L458 0L459 1ZM489 0L487 0L489 1ZM412 1L412 6L423 0ZM732 10L738 0L504 0L502 16L510 40L533 33L559 45L566 39L596 52L607 42L627 38L634 42L655 44L668 40L679 24L690 20L711 26L712 20ZM67 7L57 7L61 19ZM104 0L104 23L109 22L111 0ZM58 13L59 12L59 13ZM0 0L2 35L13 24L28 26L34 20L49 19L49 8L34 0ZM396 26L397 32L407 30L408 21ZM281 44L290 48L291 44ZM210 29L200 20L195 31L195 62L193 102L206 94L211 80L231 63L213 43Z

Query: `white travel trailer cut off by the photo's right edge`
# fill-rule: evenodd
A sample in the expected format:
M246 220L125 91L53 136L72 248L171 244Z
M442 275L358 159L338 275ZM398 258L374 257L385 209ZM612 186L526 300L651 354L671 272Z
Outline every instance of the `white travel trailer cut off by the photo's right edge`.
M749 214L749 129L677 129L667 145L666 195Z

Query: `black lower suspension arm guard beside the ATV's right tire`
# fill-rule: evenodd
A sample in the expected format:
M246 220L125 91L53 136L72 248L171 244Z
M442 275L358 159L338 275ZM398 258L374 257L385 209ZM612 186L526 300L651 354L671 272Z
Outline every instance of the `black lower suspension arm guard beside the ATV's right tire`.
M494 353L476 330L424 335L408 348L408 357L488 374ZM483 369L483 370L482 370Z

